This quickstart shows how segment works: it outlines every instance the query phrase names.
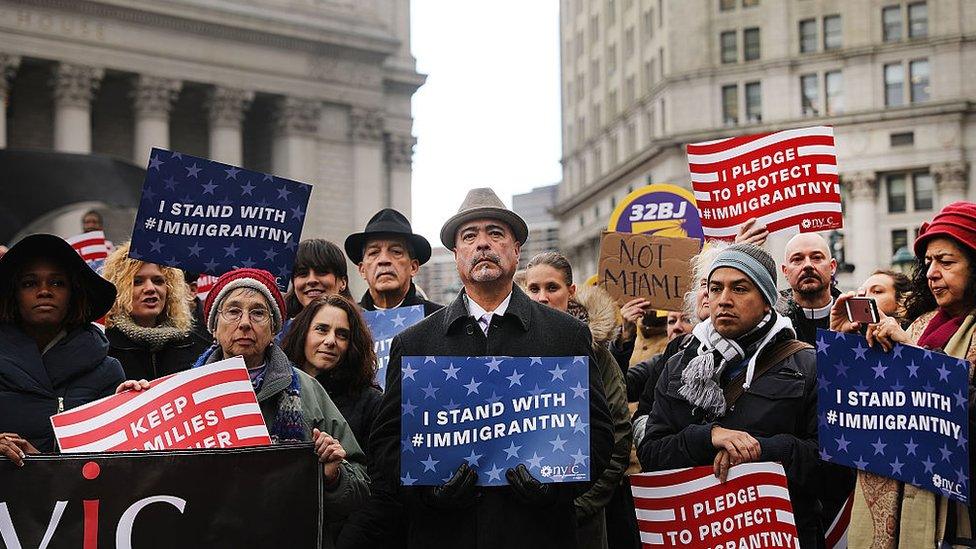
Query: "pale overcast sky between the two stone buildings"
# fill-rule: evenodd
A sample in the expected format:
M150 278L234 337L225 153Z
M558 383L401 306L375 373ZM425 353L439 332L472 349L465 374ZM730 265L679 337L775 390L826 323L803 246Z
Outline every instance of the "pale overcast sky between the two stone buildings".
M440 228L469 189L559 182L559 3L413 0L411 43L427 82L413 96L414 231Z

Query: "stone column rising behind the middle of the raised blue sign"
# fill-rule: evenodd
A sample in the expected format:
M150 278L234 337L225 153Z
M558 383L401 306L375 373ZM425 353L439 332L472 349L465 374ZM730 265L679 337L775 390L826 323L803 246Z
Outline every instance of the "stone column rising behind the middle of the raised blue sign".
M210 158L240 166L244 159L241 124L254 100L254 92L217 86L207 97L210 119Z

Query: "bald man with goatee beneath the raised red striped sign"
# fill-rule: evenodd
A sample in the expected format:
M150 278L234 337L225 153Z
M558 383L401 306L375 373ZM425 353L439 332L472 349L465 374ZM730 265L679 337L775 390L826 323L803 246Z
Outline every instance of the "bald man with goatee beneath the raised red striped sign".
M830 328L830 309L840 295L833 285L837 261L822 236L804 233L786 243L780 268L790 289L783 292L776 310L793 321L797 339L815 345L817 328Z

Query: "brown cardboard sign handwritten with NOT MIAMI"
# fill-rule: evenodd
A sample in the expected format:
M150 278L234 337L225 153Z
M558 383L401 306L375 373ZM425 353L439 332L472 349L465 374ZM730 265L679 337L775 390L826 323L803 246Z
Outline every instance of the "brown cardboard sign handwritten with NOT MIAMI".
M621 305L642 297L653 309L681 311L691 289L691 258L700 249L691 238L603 233L598 286Z

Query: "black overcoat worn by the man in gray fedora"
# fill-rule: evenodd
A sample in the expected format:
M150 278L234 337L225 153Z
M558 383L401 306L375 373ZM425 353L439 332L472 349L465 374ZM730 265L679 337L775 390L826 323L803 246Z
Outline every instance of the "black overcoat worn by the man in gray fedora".
M590 470L599 478L609 461L613 427L607 409L590 331L566 313L533 302L513 286L502 316L493 316L488 335L468 314L461 292L447 307L407 328L393 339L386 393L370 439L370 505L343 530L339 547L374 547L390 534L390 517L407 513L408 547L532 547L576 546L573 500L586 483L551 485L551 506L531 507L508 486L477 488L470 506L438 509L423 494L430 488L400 486L401 359L405 356L589 356ZM457 464L460 465L460 464ZM481 471L481 474L485 474Z

